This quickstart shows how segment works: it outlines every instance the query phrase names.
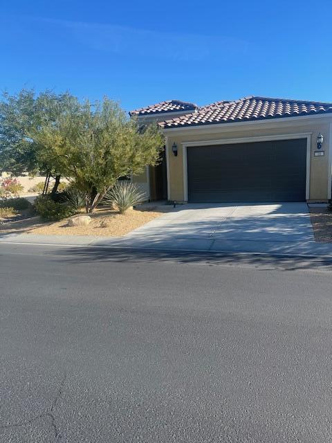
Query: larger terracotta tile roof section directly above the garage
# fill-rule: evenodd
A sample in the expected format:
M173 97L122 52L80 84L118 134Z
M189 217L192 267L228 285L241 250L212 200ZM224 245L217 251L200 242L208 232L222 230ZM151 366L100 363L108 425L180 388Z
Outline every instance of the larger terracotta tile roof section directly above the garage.
M160 122L159 125L167 129L268 118L308 116L330 112L332 113L332 103L250 96L239 100L214 102L191 114Z

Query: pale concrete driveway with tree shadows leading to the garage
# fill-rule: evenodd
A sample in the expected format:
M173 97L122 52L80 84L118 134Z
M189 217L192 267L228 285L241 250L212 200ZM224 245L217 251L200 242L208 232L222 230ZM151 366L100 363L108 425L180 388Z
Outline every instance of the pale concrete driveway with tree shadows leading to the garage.
M253 253L331 253L317 244L308 206L187 204L133 230L122 246Z

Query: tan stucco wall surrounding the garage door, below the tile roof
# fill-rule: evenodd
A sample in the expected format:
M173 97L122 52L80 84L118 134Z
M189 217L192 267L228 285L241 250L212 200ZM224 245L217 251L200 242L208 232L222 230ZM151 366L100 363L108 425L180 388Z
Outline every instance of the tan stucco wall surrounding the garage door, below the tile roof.
M288 121L285 121L288 120ZM272 122L272 120L270 120ZM169 158L169 200L184 201L185 192L183 190L183 146L182 143L190 141L214 141L229 140L232 138L246 138L259 136L279 136L287 134L311 134L311 155L310 155L310 187L309 199L313 201L324 201L329 198L328 184L331 177L331 163L329 163L329 153L332 141L330 140L330 125L332 118L315 118L302 120L301 118L289 118L266 124L256 125L220 125L212 128L200 127L199 129L178 131L165 131L167 136L168 158ZM213 131L213 132L212 132ZM324 144L322 150L325 155L315 157L317 150L317 135L322 133ZM287 138L287 137L285 137ZM172 154L172 145L178 146L178 156ZM285 159L287 161L287 159Z

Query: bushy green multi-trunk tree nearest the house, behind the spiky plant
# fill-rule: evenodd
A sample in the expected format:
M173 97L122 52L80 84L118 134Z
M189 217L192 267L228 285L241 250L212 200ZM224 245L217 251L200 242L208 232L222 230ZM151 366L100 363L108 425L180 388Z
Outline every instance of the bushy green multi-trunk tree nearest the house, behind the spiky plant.
M120 177L156 165L164 144L157 125L139 127L108 98L95 105L71 102L56 116L44 114L41 121L29 132L39 145L39 161L53 165L84 192L87 213Z

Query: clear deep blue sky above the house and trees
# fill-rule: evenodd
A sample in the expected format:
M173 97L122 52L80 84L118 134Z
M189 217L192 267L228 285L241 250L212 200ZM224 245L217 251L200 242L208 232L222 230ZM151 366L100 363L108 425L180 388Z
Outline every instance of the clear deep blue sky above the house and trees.
M332 102L332 2L1 0L0 88L124 109L260 95Z

